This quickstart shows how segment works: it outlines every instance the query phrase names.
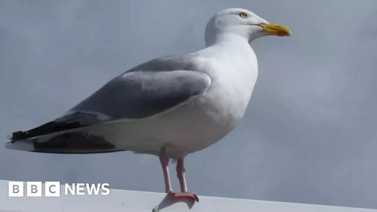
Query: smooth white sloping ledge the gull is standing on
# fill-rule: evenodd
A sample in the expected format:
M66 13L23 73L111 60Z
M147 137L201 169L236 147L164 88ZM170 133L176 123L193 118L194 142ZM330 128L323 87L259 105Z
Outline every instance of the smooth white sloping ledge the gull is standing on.
M108 195L8 197L8 182L0 180L0 212L377 212L372 209L282 203L199 196L199 203L171 203L166 194L110 189ZM26 188L26 183L24 183ZM44 184L43 188L44 189Z

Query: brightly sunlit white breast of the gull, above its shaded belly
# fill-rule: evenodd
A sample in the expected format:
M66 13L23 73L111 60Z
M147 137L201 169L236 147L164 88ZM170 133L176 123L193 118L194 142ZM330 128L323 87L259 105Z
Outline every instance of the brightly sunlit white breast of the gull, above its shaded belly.
M219 46L218 52L206 59L205 70L211 77L211 87L205 96L213 101L219 114L238 121L244 115L258 75L256 55L249 45L228 51Z

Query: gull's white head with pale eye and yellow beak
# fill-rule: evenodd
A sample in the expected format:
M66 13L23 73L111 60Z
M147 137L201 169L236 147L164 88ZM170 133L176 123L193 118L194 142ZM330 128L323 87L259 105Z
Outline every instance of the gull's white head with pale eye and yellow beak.
M291 36L286 26L269 23L251 11L239 8L217 12L205 28L205 43L210 46L230 37L242 37L250 43L265 35Z

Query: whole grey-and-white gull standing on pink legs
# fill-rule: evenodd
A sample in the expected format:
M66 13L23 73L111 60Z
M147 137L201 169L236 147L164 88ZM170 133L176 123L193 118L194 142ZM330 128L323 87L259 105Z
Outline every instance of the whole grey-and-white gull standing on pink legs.
M156 155L170 200L199 201L187 190L184 158L219 141L244 115L258 75L250 43L265 35L291 36L291 31L246 9L219 11L205 28L204 49L131 68L54 121L12 133L5 147ZM181 192L170 184L169 159L177 161Z

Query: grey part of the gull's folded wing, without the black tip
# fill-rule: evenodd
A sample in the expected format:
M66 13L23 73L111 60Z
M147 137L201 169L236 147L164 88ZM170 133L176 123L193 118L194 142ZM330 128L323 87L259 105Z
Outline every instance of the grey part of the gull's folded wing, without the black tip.
M110 120L145 118L204 94L210 83L207 74L189 70L126 72L71 111L87 111Z

